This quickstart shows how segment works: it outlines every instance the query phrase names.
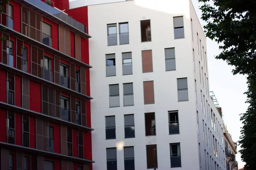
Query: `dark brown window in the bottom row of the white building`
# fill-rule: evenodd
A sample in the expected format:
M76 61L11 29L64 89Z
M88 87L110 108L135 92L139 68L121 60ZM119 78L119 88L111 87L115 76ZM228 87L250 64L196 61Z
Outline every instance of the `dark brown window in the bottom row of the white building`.
M147 168L157 168L157 145L146 145L147 152Z

